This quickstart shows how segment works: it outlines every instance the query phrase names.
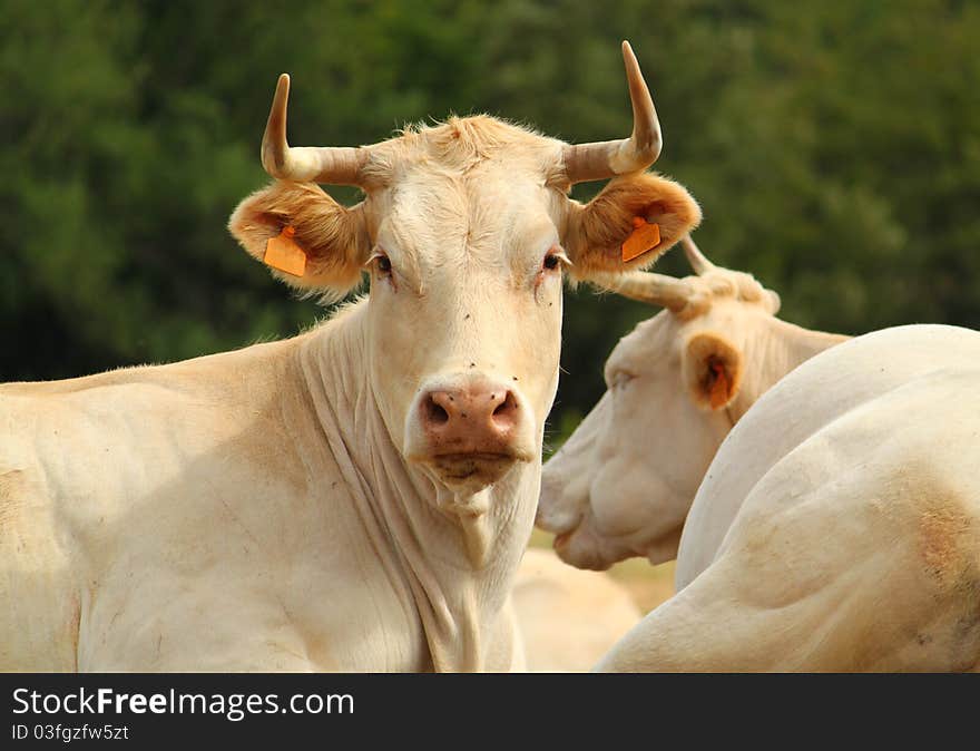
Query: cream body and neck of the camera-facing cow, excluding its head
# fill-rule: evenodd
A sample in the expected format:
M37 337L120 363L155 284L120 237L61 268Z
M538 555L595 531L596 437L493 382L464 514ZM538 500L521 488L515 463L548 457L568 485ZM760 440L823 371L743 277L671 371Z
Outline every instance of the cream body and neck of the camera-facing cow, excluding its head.
M285 342L0 389L4 670L512 666L490 583L533 505L492 501L532 498L537 470L493 488L499 534L472 570L341 345L363 308Z

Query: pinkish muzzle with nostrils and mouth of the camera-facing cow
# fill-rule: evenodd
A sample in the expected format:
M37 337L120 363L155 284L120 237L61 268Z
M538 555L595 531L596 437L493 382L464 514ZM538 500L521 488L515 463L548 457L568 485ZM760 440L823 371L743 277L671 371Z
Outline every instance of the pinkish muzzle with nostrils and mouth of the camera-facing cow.
M533 420L520 393L486 377L440 379L409 413L406 453L452 489L478 491L531 461Z

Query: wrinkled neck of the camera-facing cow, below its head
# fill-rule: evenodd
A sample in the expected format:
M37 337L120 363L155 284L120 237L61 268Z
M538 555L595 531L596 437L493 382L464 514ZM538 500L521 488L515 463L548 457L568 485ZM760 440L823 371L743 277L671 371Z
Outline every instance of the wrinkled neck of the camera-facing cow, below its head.
M392 440L367 376L365 333L361 303L305 338L301 364L320 432L372 549L420 615L432 667L507 669L514 633L501 618L510 617L504 606L530 536L540 466L516 468L465 499L465 507L486 508L483 514L449 510L462 499L409 465ZM527 500L518 506L513 498ZM502 633L511 644L501 643ZM498 664L488 664L491 650Z

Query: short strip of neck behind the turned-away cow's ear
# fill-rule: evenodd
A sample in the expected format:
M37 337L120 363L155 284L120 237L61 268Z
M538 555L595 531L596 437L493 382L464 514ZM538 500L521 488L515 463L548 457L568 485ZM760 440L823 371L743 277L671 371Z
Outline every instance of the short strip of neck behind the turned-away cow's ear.
M803 329L773 316L767 316L764 321L765 325L744 342L743 362L746 372L742 378L738 397L728 407L733 425L790 371L849 339L843 334Z

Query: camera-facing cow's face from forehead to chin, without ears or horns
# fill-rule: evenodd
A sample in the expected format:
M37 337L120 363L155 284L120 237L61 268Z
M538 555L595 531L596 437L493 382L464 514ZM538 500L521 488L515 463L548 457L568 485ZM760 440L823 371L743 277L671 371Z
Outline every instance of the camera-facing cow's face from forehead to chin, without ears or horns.
M453 488L540 456L570 263L564 198L543 183L513 159L415 168L374 209L372 382L404 456Z

